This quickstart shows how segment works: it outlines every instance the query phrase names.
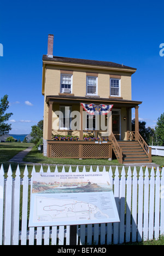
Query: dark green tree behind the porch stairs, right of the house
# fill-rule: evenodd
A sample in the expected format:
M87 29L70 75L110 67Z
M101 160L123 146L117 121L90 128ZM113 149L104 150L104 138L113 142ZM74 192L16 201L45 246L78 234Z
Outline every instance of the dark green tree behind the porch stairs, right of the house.
M152 144L152 139L155 138L155 131L150 127L146 127L145 121L139 121L139 134L143 137L148 145ZM135 131L135 119L132 120L132 131Z

